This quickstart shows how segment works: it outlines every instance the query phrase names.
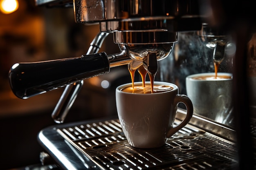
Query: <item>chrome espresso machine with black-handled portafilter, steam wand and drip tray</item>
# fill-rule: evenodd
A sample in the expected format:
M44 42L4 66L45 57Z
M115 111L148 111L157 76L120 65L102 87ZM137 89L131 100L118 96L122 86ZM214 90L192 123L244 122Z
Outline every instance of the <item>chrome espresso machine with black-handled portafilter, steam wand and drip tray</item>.
M17 63L10 69L11 88L22 99L65 86L52 113L54 121L60 124L38 134L46 151L40 155L43 164L52 160L67 170L256 168L247 89L247 42L255 31L252 5L229 0L36 0L36 5L73 7L77 24L99 23L99 33L87 54ZM202 33L205 23L218 30L215 35L220 31L230 35L236 46L232 61L234 126L193 115L190 123L168 139L164 147L147 150L128 144L116 118L61 124L84 79L122 65L133 70L143 65L153 74L152 63L168 58L179 35ZM120 53L98 53L108 35L113 36ZM178 108L176 123L185 115L186 111Z

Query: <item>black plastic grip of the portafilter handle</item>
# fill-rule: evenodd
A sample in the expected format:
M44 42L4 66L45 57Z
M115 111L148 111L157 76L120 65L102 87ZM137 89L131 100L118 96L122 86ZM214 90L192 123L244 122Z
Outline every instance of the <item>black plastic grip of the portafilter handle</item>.
M17 63L9 71L13 93L22 99L110 71L106 53L44 62Z

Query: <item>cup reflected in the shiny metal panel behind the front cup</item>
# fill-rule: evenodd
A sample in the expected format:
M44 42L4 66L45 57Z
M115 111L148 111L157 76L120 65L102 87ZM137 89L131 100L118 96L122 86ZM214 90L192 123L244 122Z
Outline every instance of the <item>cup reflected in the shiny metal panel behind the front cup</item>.
M231 73L217 74L222 75L232 77ZM198 76L214 77L215 73L199 73L186 77L186 92L193 103L194 114L226 124L232 111L232 78L194 79Z

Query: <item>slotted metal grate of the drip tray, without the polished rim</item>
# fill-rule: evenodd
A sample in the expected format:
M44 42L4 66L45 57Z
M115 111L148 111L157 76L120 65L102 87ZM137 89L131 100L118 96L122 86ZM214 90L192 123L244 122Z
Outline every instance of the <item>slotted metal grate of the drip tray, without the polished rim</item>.
M57 131L101 169L231 170L238 166L234 143L190 125L153 149L130 146L118 119Z

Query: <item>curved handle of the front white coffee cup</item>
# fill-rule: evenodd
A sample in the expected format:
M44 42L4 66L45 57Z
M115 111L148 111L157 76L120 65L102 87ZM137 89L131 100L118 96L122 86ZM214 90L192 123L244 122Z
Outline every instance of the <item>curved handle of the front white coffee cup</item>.
M169 129L167 131L167 135L166 135L167 138L170 138L177 131L179 131L181 128L186 126L186 124L189 123L191 117L193 116L193 104L192 104L191 100L189 99L189 97L187 97L186 95L176 95L176 97L174 99L174 106L177 107L177 104L179 104L179 103L185 104L186 111L187 111L186 117L177 126L169 127Z

